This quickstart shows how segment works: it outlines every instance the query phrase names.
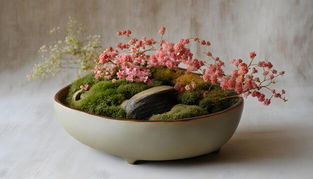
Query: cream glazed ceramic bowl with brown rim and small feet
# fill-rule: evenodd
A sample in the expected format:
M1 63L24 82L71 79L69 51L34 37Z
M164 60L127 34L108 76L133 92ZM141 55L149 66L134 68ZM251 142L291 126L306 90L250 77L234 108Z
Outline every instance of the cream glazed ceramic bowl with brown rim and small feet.
M54 96L59 122L76 140L92 148L136 160L171 160L218 152L235 132L243 98L208 115L171 121L128 120L95 115L64 104L69 85Z

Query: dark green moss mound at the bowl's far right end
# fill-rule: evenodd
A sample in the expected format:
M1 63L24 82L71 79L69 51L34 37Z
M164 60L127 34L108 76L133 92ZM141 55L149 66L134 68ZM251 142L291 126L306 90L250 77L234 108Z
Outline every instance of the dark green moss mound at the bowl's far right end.
M204 108L209 113L224 110L238 101L237 97L221 99L223 97L231 95L235 95L235 93L232 93L228 90L224 91L220 89L220 87L215 86L215 88L207 93L206 97L199 101L199 106Z

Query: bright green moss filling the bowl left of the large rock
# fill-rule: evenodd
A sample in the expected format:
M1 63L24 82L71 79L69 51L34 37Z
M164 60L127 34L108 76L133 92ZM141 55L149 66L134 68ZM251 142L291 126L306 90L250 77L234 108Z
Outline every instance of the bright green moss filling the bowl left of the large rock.
M90 88L88 91L83 91L83 98L74 101L72 95L80 89L80 85L88 83ZM132 82L126 80L110 80L99 81L94 79L94 74L88 74L71 83L70 89L66 98L67 105L75 109L108 116L114 118L135 119L131 114L127 115L125 110L119 104L126 98L141 92L150 87L158 86L161 82L154 80L152 84Z

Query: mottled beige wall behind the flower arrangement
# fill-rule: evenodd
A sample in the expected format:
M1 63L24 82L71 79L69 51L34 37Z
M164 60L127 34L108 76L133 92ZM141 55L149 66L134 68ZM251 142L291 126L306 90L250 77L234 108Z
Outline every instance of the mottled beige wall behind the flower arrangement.
M22 70L40 60L37 52L52 40L48 30L64 26L69 15L82 21L88 33L101 34L114 45L115 32L131 29L136 36L158 39L198 37L211 41L211 51L224 60L247 59L281 65L292 79L313 82L311 0L1 0L0 69ZM191 46L198 56L204 51ZM279 69L279 68L278 68Z

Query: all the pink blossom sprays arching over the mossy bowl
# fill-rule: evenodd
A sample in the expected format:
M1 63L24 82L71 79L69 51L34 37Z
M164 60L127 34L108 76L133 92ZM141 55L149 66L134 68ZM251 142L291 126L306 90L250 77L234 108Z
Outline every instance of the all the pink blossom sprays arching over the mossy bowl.
M190 71L198 71L201 73L200 79L203 81L211 84L219 83L222 89L233 90L245 97L251 95L256 97L258 101L263 102L264 105L269 105L272 97L281 98L283 101L287 100L283 97L285 93L283 89L279 92L269 88L270 84L275 83L274 78L283 75L284 71L277 73L277 70L272 69L273 65L269 61L259 61L252 64L256 56L254 51L249 53L249 63L243 62L241 58L230 59L229 62L234 65L235 69L227 75L222 70L224 62L218 57L213 57L210 51L206 51L205 54L207 58L213 59L213 64L192 58L193 54L186 47L190 39L205 46L210 46L209 41L193 37L181 38L177 43L173 43L162 39L164 32L165 27L162 26L158 30L158 34L161 34L160 47L154 48L153 45L156 41L153 38L143 36L141 39L137 39L130 37L130 30L118 31L117 35L127 36L130 38L129 41L126 43L118 42L116 49L109 46L100 54L99 58L95 60L94 77L112 78L112 82L115 82L116 79L126 79L129 82L142 81L150 84L151 79L149 77L151 73L149 67L166 66L177 69L178 64L182 62L186 65L186 74L189 74ZM155 53L146 54L146 51L155 49ZM120 51L122 52L120 53ZM258 73L259 71L260 73ZM187 84L176 83L174 88L179 92L184 92L185 90L192 90L196 86L197 84L191 80ZM82 85L82 88L84 89L85 86ZM272 95L266 97L260 91L261 89L270 90ZM205 97L208 92L209 90L205 91L203 96Z

